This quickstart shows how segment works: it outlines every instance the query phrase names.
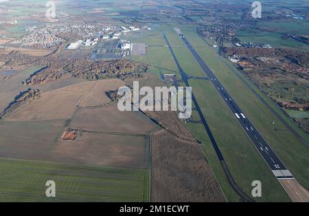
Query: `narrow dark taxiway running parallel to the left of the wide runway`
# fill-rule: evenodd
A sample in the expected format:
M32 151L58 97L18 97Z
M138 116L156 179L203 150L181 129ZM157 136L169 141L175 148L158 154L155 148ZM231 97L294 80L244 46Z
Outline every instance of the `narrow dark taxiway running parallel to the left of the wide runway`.
M172 50L172 47L170 46L170 42L168 41L168 38L165 36L164 34L164 39L166 41L166 43L168 43L168 47L170 48L170 52L172 53L172 56L174 58L174 61L177 65L177 67L179 68L179 73L181 74L181 78L183 79L183 82L185 83L185 85L187 87L190 87L189 82L188 82L188 76L187 74L183 71L183 69L181 68L181 65L179 64L179 61L177 60L174 51ZM212 145L214 146L214 149L216 151L216 154L218 155L218 158L220 160L220 163L222 165L222 169L223 171L225 171L225 175L227 175L227 180L229 181L229 184L231 185L231 187L234 189L234 191L236 191L236 193L238 193L238 195L240 195L240 197L242 198L242 200L244 202L254 202L253 199L251 199L251 197L247 196L245 193L242 192L242 190L239 188L239 186L236 184L235 180L233 179L229 168L227 166L227 164L225 163L225 160L222 156L222 153L218 147L218 144L216 143L216 140L214 139L213 134L211 133L211 130L206 122L206 119L201 111L201 108L198 106L198 102L194 96L194 94L192 93L192 102L194 103L194 107L196 108L196 111L198 112L198 116L200 116L201 118L201 122L203 123L203 126L209 136L209 139L212 143Z

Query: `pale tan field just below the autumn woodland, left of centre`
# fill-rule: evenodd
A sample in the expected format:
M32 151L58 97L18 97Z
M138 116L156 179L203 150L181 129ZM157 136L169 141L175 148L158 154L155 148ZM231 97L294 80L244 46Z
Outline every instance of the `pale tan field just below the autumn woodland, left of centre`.
M118 89L123 85L121 80L98 80L47 91L41 94L41 98L33 100L6 119L14 121L68 119L76 111L77 106L100 106L110 101L105 91Z

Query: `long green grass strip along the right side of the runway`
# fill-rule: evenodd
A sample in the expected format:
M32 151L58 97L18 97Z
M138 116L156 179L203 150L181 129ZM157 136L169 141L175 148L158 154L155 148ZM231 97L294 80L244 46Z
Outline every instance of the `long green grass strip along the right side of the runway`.
M185 35L189 41L194 41L194 47L205 63L216 74L222 85L224 85L236 100L244 114L250 118L253 125L262 133L268 144L284 162L286 167L297 178L299 184L309 188L309 150L305 144L290 132L285 125L258 99L246 85L233 74L223 63L224 59L211 50L210 47L199 47L197 44L205 44L194 30ZM275 125L271 124L275 120ZM251 144L253 145L253 144Z

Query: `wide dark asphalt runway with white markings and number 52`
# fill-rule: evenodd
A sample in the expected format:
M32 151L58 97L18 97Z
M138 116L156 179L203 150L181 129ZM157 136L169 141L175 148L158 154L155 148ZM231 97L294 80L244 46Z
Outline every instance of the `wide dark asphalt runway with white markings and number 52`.
M196 50L194 50L194 47L192 47L190 42L187 41L186 37L181 33L179 34L179 36L182 39L183 43L185 43L185 45L187 46L188 50L190 50L198 64L201 66L211 83L214 85L222 99L225 101L225 104L229 107L235 118L238 120L242 129L244 129L244 131L247 133L247 136L249 136L256 149L258 149L260 155L262 155L262 158L264 158L268 166L271 168L271 171L273 171L274 175L278 179L294 178L290 171L286 169L286 166L284 166L282 161L277 157L275 152L271 149L271 147L269 147L268 143L266 142L266 140L264 140L259 131L255 129L251 121L236 104L235 100L233 100L225 87L223 87L218 78L216 78L214 73L211 72L211 69L209 69L201 56L199 56Z

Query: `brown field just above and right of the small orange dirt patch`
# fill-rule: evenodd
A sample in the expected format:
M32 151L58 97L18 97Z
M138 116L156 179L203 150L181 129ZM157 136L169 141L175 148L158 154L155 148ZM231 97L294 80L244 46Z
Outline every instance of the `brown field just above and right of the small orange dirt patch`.
M78 109L70 127L125 133L151 133L159 129L140 111L119 111L116 103L95 109Z

